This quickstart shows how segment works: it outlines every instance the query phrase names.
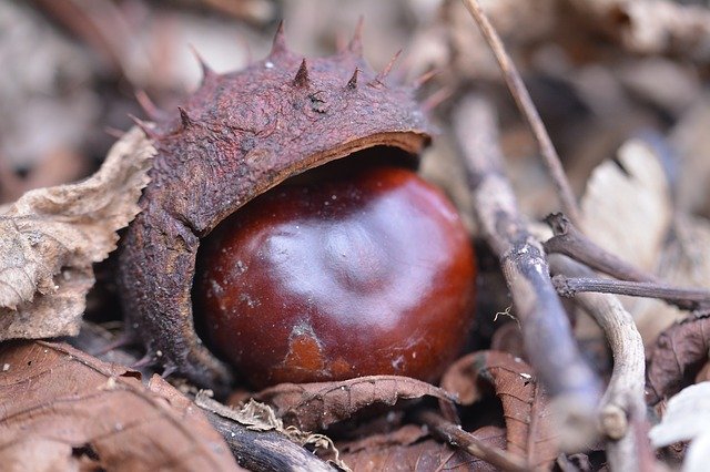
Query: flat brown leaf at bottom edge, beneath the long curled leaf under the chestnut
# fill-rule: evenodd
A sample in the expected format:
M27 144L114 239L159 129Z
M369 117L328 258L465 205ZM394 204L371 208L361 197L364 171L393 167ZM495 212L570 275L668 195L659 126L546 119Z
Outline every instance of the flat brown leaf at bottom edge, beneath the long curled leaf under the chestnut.
M355 471L495 471L496 468L463 450L452 449L435 440L415 442L422 432L406 425L389 434L367 439L367 447L361 442L338 444L346 451L342 459ZM417 428L419 429L419 428ZM484 427L474 435L490 447L504 448L504 431L495 427Z

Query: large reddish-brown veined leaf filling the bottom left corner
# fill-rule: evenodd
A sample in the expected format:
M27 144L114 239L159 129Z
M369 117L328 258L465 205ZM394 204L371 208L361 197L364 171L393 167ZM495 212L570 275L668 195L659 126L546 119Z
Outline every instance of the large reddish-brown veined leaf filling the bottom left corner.
M3 343L0 366L0 463L240 470L200 409L160 377L145 388L138 372L44 341Z

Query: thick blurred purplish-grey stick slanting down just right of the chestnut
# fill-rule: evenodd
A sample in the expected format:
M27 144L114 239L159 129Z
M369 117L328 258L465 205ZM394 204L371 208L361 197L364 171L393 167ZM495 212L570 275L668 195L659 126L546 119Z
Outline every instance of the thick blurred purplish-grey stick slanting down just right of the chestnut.
M500 259L530 363L555 397L564 448L594 437L599 382L582 360L567 314L549 278L540 244L529 234L503 175L491 107L464 99L454 116L456 141L483 236Z

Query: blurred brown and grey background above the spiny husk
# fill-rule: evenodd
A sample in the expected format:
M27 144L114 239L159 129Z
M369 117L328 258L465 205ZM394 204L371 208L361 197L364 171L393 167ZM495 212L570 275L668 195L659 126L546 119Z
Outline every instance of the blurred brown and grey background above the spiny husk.
M591 170L643 135L668 157L683 208L708 215L707 1L484 0L581 193ZM328 54L364 18L366 59L437 75L423 100L442 136L424 173L463 207L447 147L448 105L469 90L495 101L501 143L528 215L556 209L537 148L477 28L453 0L2 0L0 202L75 181L115 135L145 117L136 93L174 111L197 86L194 49L217 72L263 58L278 21L290 47ZM683 182L683 185L678 185ZM459 189L457 191L457 186ZM459 195L457 195L459 194Z

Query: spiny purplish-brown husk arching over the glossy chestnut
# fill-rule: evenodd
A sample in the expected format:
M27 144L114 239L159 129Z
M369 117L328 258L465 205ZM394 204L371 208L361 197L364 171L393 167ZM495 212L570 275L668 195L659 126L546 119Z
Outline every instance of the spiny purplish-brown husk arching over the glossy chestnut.
M326 162L378 145L416 156L428 144L415 90L367 65L359 30L343 51L306 60L280 27L266 59L225 74L203 65L180 113L139 123L158 154L122 239L118 284L126 326L168 372L219 390L232 382L195 334L191 300L200 239L220 222Z

